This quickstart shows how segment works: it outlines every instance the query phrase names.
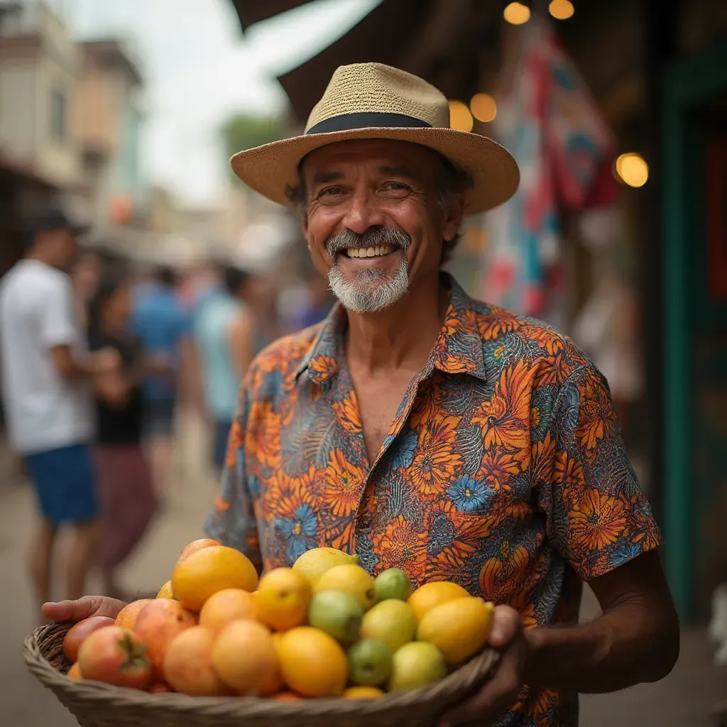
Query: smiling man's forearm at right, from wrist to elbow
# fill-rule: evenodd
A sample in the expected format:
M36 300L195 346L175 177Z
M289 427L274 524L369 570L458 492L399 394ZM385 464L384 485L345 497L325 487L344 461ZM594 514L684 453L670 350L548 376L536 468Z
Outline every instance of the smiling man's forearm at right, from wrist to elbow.
M640 603L622 603L589 624L526 632L525 683L584 694L617 691L666 676L678 656L678 623Z

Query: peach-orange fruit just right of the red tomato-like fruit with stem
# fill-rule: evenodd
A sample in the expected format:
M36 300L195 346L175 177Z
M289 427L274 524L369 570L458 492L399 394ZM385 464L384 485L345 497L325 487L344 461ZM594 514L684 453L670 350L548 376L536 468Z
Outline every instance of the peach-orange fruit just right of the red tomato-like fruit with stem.
M193 626L177 634L164 656L164 678L174 691L193 696L232 694L212 667L214 634L203 626Z

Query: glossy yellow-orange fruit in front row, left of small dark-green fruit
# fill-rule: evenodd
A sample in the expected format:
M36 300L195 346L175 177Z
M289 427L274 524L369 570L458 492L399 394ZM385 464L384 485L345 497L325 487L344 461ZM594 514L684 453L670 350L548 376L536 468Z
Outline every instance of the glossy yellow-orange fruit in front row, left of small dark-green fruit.
M281 635L280 666L285 683L302 696L341 694L348 680L345 651L332 636L312 626Z

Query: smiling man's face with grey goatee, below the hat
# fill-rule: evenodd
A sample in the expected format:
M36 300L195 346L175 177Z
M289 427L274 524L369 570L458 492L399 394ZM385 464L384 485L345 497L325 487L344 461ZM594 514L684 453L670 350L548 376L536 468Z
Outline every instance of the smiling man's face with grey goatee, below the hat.
M303 229L316 268L345 308L370 313L436 276L462 214L441 209L433 150L395 140L337 142L310 153Z

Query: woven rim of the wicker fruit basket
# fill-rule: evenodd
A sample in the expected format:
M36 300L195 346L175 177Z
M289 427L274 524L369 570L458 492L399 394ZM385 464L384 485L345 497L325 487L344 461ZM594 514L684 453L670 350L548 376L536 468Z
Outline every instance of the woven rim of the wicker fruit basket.
M56 632L68 631L72 622L52 623L40 626L25 637L23 641L23 659L28 670L43 684L54 692L67 694L74 701L87 700L108 707L145 707L149 712L174 712L190 715L204 712L218 717L254 717L275 718L300 715L308 717L316 715L377 715L396 708L413 707L418 709L427 704L451 702L452 696L463 696L481 684L494 672L499 662L499 653L485 647L469 662L451 674L427 686L410 691L387 692L379 699L354 700L337 697L320 697L302 699L295 702L283 702L269 697L260 696L190 696L177 692L150 694L147 691L127 687L113 686L92 680L73 680L57 670L41 652L41 643L51 638Z

